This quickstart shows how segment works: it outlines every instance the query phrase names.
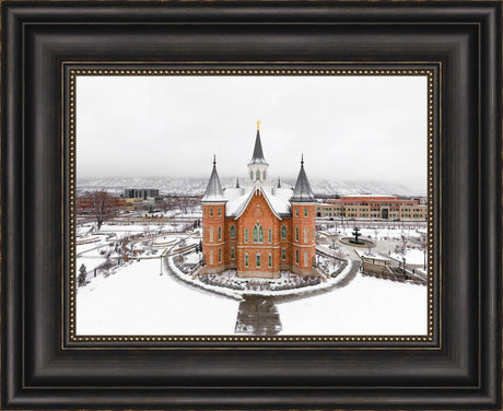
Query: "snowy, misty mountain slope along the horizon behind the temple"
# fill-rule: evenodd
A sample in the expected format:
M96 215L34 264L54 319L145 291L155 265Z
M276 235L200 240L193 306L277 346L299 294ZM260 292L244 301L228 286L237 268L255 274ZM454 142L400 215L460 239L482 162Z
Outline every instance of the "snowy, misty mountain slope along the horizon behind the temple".
M221 178L223 187L235 187L235 178ZM189 195L199 196L206 190L208 178L166 178L166 177L143 177L143 178L96 178L79 179L77 192L106 190L120 193L126 188L156 188L161 195ZM294 180L282 179L283 187L294 185ZM340 181L327 179L311 179L311 186L318 196L348 196L348 195L399 195L419 196L421 192L388 183L376 181Z

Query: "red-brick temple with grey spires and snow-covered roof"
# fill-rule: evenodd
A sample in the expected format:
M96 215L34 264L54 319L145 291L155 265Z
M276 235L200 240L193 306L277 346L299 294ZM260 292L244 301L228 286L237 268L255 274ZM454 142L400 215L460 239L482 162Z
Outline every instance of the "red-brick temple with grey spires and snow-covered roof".
M315 198L304 169L295 187L272 185L259 122L248 173L222 189L217 162L202 197L201 273L236 270L238 277L279 278L280 271L313 275L316 256Z

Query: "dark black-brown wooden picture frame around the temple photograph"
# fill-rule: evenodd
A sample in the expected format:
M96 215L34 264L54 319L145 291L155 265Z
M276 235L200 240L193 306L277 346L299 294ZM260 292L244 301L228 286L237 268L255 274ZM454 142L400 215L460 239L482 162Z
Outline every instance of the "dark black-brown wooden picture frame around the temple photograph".
M500 409L501 16L501 1L2 2L1 408ZM69 341L65 70L337 63L437 73L435 338Z

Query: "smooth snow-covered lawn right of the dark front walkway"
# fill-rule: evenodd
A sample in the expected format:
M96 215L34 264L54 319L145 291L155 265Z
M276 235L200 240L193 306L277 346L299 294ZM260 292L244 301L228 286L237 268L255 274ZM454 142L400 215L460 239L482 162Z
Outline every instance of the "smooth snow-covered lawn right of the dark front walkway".
M428 290L356 274L330 293L278 304L288 334L426 334Z

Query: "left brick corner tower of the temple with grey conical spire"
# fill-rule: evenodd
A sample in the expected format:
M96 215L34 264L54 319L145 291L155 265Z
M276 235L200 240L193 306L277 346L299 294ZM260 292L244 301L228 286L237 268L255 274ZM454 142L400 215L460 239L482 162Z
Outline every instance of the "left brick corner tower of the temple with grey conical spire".
M206 269L220 272L225 269L225 200L217 160L213 156L213 171L202 196L202 255Z

